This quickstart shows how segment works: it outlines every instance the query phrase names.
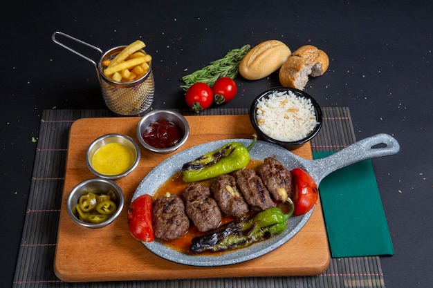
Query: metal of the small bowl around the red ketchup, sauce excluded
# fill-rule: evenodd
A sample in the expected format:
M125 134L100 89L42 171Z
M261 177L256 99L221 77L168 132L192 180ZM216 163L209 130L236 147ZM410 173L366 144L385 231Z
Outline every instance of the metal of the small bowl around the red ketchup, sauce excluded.
M167 148L156 148L154 146L151 146L145 142L142 135L145 133L146 128L153 122L156 122L161 119L166 119L169 122L173 122L178 126L179 129L181 129L181 134L183 135L182 139L175 144L174 146L167 147ZM179 147L181 147L188 139L188 136L190 135L190 125L187 122L187 119L183 117L183 115L176 113L174 111L169 110L154 110L146 115L144 115L140 122L138 122L137 125L137 138L138 141L144 146L147 150L160 153L160 154L167 154L172 153L176 151Z

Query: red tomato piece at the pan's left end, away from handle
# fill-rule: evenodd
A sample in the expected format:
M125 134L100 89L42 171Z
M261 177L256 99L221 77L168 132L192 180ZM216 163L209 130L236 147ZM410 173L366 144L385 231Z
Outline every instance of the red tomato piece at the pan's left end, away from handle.
M128 226L134 238L145 242L154 240L152 198L149 194L139 196L129 205Z

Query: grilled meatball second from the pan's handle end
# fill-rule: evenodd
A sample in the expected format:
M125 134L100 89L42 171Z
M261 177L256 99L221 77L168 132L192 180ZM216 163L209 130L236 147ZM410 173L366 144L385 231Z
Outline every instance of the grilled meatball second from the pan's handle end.
M241 190L246 202L253 211L264 211L275 207L275 202L270 198L268 189L254 170L243 168L234 172L239 190Z

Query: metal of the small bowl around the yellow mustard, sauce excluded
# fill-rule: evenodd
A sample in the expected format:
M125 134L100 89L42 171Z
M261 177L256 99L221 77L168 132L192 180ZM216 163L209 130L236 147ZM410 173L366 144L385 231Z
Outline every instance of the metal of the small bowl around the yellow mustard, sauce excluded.
M95 167L93 167L93 164L92 164L93 163L93 156L98 151L98 149L100 149L102 146L104 146L106 144L111 144L111 143L118 143L118 144L123 144L123 145L127 146L127 148L129 148L131 150L131 153L133 154L133 157L134 157L134 161L131 164L131 166L129 166L129 169L127 169L126 171L123 171L122 173L118 173L116 175L107 175L107 174L101 173L100 171L95 169ZM89 148L87 148L87 151L86 151L86 165L89 168L89 170L93 174L95 174L96 176L106 178L106 179L115 180L115 179L120 179L122 177L125 177L126 175L131 173L133 171L133 169L136 169L138 162L140 162L140 146L138 146L138 144L134 140L132 140L131 137L129 137L127 135L122 135L122 134L103 135L103 136L99 137L98 139L94 140L90 144Z

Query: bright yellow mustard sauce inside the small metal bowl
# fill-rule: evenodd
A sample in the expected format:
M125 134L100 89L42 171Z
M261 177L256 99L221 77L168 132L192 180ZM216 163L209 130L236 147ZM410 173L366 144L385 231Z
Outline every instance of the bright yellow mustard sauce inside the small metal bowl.
M104 175L118 175L132 166L135 158L130 148L120 143L105 144L95 152L92 166Z

